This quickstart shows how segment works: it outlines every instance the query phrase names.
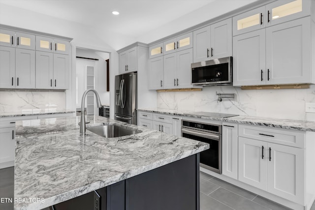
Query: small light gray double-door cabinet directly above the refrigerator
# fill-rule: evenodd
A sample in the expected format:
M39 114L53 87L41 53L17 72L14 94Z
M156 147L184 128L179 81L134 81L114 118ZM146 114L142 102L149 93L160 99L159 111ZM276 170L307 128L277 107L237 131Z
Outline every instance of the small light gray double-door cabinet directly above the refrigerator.
M119 54L119 73L137 71L137 47Z

